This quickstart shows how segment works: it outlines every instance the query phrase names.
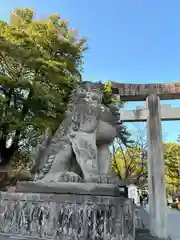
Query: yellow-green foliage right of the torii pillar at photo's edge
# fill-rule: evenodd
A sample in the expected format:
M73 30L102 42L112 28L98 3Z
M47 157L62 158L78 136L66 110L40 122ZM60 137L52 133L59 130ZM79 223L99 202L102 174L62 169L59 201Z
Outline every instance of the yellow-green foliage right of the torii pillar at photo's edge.
M164 143L165 178L168 192L180 189L180 144Z

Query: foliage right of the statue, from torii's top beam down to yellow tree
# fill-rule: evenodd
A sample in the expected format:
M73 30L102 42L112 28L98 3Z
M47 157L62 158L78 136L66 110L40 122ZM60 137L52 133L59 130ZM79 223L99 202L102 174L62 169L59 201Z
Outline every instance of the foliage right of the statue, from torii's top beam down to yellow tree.
M103 103L117 115L117 136L111 145L112 170L119 179L140 185L147 180L147 154L144 154L139 142L130 139L131 134L120 120L122 102L120 96L112 94L111 81L104 85Z

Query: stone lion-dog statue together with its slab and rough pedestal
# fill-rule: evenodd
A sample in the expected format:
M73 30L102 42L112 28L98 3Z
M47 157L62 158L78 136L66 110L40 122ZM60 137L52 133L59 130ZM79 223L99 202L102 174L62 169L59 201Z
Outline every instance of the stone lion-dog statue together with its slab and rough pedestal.
M134 240L126 184L113 181L108 145L116 116L101 89L76 89L64 121L35 157L36 178L0 194L0 233L19 239ZM33 193L31 193L33 192Z

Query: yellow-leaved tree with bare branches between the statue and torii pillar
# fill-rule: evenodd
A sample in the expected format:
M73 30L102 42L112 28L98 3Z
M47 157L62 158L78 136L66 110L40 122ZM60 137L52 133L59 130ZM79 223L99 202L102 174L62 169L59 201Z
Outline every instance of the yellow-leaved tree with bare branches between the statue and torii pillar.
M112 146L112 170L119 179L126 179L139 187L147 184L147 150L144 142L137 139L125 145L116 139Z

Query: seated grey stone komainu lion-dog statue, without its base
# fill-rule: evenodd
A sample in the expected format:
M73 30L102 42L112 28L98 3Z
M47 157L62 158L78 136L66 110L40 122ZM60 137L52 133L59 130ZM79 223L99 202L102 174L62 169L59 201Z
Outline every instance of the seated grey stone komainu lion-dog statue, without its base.
M35 181L99 181L111 169L108 145L116 116L102 104L101 85L84 83L73 93L64 120L36 156Z

